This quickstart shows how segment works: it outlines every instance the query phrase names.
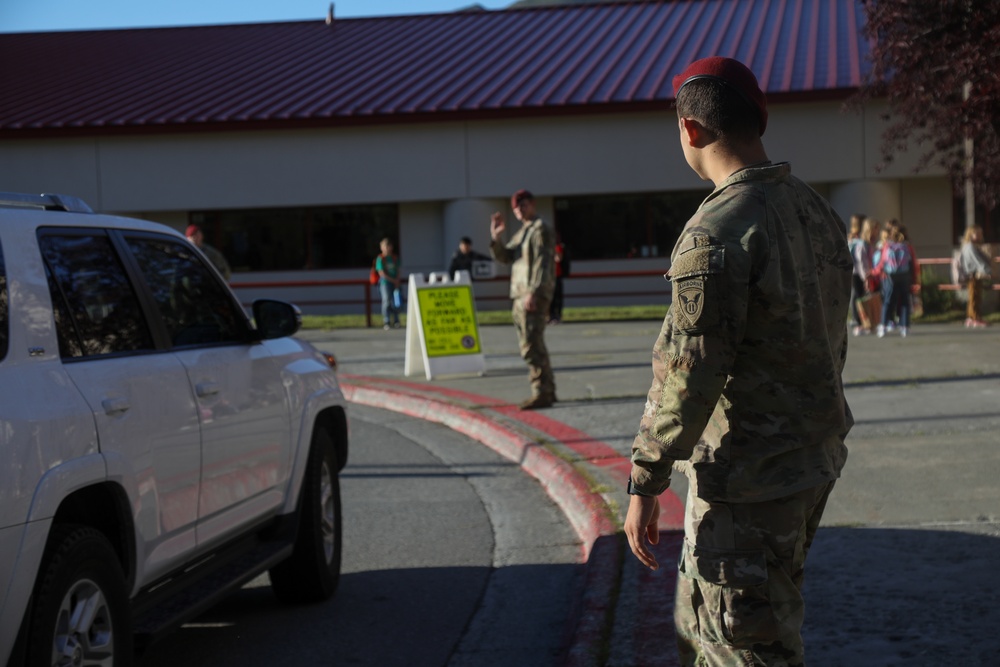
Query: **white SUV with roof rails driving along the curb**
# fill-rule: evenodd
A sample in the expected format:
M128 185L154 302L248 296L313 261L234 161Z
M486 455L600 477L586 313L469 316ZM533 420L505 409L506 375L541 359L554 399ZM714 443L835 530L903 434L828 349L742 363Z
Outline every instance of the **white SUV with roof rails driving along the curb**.
M0 193L0 665L121 666L269 571L340 575L344 396L162 225Z

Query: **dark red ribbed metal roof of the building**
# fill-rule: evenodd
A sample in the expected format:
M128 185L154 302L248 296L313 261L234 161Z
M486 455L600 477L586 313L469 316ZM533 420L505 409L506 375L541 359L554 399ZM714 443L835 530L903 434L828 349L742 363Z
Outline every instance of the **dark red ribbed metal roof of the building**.
M768 95L867 72L860 0L661 0L0 34L0 136L406 122L656 107L708 55Z

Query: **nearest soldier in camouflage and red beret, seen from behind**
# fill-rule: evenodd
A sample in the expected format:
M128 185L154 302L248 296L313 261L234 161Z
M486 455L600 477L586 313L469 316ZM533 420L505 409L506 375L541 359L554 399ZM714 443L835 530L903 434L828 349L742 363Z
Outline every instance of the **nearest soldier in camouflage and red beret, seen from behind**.
M768 161L767 107L749 69L699 60L674 93L685 158L715 189L671 255L625 533L655 569L657 496L682 471L682 664L804 665L805 558L853 424L841 381L845 227L787 163Z

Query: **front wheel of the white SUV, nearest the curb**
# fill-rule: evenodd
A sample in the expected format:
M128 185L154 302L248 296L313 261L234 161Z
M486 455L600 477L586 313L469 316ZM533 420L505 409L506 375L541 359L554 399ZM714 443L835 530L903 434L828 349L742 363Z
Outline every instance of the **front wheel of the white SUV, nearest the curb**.
M333 440L317 430L309 451L295 551L271 568L271 589L282 602L320 602L340 582L340 478Z

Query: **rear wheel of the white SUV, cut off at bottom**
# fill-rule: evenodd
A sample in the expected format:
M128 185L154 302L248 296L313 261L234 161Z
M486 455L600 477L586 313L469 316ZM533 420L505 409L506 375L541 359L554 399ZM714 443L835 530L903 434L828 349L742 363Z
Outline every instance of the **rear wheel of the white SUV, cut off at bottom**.
M52 529L29 614L28 667L132 664L125 575L93 528Z

